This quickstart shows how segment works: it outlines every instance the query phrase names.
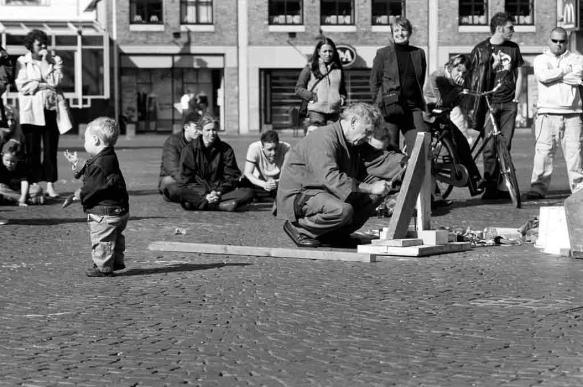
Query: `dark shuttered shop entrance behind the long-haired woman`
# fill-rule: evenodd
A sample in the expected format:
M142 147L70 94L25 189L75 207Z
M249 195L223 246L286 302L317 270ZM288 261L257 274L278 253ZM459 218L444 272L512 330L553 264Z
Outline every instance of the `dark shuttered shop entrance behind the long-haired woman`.
M291 111L300 106L296 96L296 82L301 69L261 70L261 127L272 125L273 129L293 128ZM345 71L348 103L370 102L368 88L369 69Z

